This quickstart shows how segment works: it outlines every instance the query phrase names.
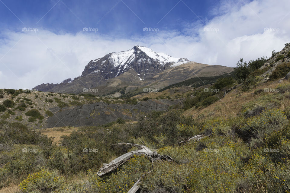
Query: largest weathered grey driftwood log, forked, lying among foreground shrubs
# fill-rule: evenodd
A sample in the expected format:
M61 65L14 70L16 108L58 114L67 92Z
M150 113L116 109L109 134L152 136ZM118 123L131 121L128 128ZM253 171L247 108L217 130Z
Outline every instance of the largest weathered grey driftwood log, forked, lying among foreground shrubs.
M131 145L133 147L138 147L138 150L130 151L128 153L125 153L121 155L120 157L117 157L116 159L112 160L110 163L104 163L104 166L100 168L97 175L103 176L117 167L121 166L123 163L130 160L130 158L134 157L135 155L145 155L148 157L152 162L155 162L157 160L167 160L172 161L172 158L166 155L159 155L156 152L152 152L148 147L144 145L138 145L138 144L129 144L129 143L118 143L118 145Z

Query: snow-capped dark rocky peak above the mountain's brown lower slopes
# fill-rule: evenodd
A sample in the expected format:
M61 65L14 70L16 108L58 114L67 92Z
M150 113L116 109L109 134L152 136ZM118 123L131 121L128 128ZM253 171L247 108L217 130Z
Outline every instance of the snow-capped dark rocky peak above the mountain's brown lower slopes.
M161 52L154 52L144 46L134 46L122 52L113 52L89 62L82 72L101 75L102 78L111 79L128 71L131 67L140 74L140 80L151 77L169 66L178 66L190 62L184 58L174 58Z

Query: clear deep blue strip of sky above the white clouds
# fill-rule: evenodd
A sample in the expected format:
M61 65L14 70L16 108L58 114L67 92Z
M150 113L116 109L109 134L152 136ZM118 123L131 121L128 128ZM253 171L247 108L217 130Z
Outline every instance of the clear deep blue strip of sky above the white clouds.
M142 35L144 27L177 30L188 23L205 24L214 17L216 0L1 0L1 28L40 28L77 33L83 27L117 37ZM5 5L3 5L5 4ZM111 10L111 11L110 11ZM14 15L15 14L15 15Z

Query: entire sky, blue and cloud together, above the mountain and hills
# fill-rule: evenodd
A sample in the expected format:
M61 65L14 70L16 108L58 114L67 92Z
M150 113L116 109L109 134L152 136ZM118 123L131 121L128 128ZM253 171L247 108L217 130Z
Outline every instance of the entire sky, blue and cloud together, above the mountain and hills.
M73 79L90 60L134 45L235 67L290 42L289 7L289 0L0 0L0 88Z

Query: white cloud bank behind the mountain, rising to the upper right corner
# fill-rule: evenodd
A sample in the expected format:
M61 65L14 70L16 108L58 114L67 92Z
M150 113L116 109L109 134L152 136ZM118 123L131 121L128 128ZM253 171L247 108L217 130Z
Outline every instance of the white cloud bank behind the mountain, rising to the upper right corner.
M288 0L279 3L255 0L248 4L241 1L235 6L236 2L221 4L212 10L216 11L216 16L206 25L188 24L183 33L159 31L148 32L144 37L115 39L86 32L2 31L1 36L5 38L0 40L0 88L32 88L43 82L59 83L80 75L90 60L134 45L148 46L157 52L195 62L234 67L239 58L269 57L272 49L279 51L290 42ZM205 28L208 31L204 31ZM279 31L264 31L264 28Z

